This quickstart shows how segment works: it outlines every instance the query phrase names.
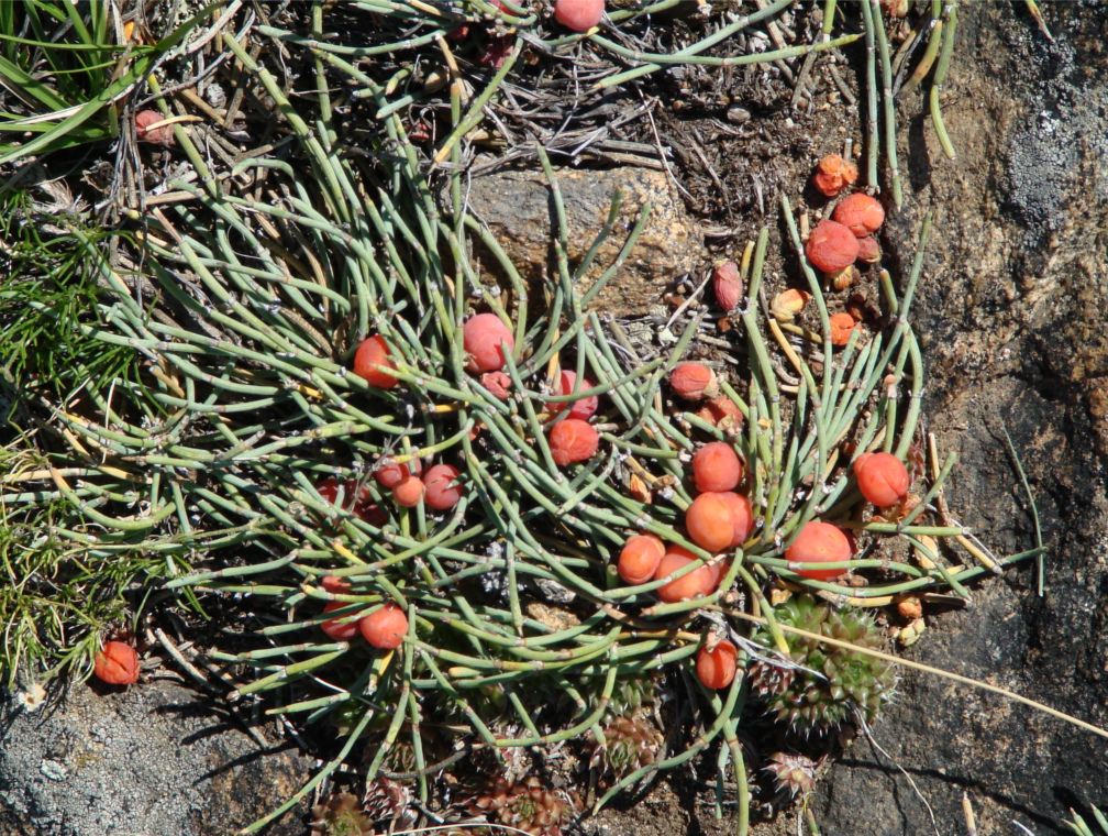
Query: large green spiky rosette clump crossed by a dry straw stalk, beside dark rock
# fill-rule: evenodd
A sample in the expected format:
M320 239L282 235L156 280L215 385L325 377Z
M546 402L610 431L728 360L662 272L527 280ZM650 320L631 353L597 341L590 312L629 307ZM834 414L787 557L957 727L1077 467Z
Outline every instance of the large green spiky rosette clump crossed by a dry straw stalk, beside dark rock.
M880 651L885 644L871 614L853 608L837 610L812 595L793 595L774 608L773 618L778 624L848 642L862 651ZM769 631L757 631L752 638L768 652L774 648ZM761 659L751 671L751 686L766 710L790 728L824 733L850 722L855 712L871 723L895 693L896 670L888 660L788 631L784 641L789 648L784 664L792 666Z

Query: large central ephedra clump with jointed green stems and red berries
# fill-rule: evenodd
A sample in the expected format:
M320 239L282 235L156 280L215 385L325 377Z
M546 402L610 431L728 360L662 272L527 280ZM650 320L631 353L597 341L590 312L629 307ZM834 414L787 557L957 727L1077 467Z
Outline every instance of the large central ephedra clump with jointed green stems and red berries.
M367 797L406 797L394 784L408 782L403 792L424 801L462 753L504 769L476 791L474 812L554 833L579 798L516 762L561 743L587 750L606 775L596 806L718 747L719 786L733 777L745 829L738 726L755 660L755 693L813 733L855 710L871 720L893 684L888 666L845 665L866 682L820 691L822 713L790 713L782 680L803 682L803 694L821 685L773 673L799 653L784 622L830 623L831 638L871 646L859 610L958 592L995 568L948 569L934 550L934 538L963 536L930 510L953 457L930 482L917 477L914 503L882 514L852 469L869 452L901 462L913 452L924 376L909 314L927 223L899 283L871 272L881 315L840 345L784 201L780 257L810 294L810 327L769 313L762 230L736 267L739 374L683 364L696 316L645 359L592 303L648 206L617 232L615 195L595 245L571 264L557 175L540 151L555 264L527 285L469 212L461 166L432 188L382 85L316 50L318 89L305 104L234 32L222 38L274 102L299 165L246 160L237 173L266 169L269 185L239 192L175 126L198 176L167 184L177 200L132 213L122 257L85 242L100 290L75 327L133 353L137 373L90 375L100 383L64 398L33 391L57 444L4 502L62 508L50 537L66 549L153 555L151 577L193 605L234 593L256 608L257 630L240 636L252 649L207 653L239 677L229 699L260 697L307 727L330 723L340 743L248 829L363 753ZM328 79L357 82L387 113L359 153L335 128ZM456 144L452 154L458 163ZM619 256L583 292L603 239L617 235ZM810 524L852 546L790 554ZM653 571L642 559L622 571L636 537L654 538ZM894 543L924 559L890 558ZM806 601L793 604L803 618L778 624L770 587ZM765 624L753 638L751 615ZM684 701L669 737L650 725L666 677L683 682ZM361 820L347 799L320 815L339 807Z

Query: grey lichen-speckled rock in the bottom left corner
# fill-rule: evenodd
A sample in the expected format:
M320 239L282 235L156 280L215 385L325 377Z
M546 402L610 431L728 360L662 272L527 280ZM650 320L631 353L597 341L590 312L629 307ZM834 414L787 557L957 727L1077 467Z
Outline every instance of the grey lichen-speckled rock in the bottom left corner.
M294 746L263 748L191 690L73 684L30 712L0 697L4 836L227 836L310 775ZM266 833L301 836L296 809Z

